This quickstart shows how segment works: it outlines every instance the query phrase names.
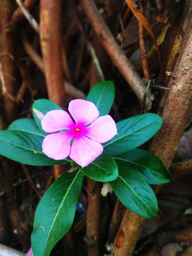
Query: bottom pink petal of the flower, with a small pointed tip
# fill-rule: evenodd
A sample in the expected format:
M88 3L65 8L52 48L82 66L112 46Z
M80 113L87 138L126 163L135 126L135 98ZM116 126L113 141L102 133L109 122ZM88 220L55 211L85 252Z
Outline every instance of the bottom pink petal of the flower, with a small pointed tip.
M75 137L70 150L70 158L82 167L93 162L102 154L102 145L85 136Z

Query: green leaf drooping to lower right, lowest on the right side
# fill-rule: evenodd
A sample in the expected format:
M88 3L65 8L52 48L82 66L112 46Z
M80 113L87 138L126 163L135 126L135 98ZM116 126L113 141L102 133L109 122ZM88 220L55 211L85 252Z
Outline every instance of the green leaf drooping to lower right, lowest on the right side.
M157 199L145 179L132 168L127 169L123 161L117 160L118 178L111 181L111 187L122 204L131 211L153 218L158 211Z

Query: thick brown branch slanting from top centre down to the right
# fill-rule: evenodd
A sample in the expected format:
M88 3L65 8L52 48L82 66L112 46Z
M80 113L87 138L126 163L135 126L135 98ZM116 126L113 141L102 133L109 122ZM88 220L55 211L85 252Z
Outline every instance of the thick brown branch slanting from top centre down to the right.
M135 92L141 102L145 93L145 86L142 83L141 77L134 69L130 61L126 58L115 38L111 34L109 28L103 21L98 9L96 8L93 0L80 0L81 6L92 24L100 41L110 55L114 64L122 73L126 81L129 83L132 90Z

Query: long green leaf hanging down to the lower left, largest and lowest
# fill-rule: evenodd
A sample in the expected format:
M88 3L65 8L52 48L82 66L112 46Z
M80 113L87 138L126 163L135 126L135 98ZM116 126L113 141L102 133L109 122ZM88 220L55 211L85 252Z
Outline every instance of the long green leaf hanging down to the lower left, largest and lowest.
M73 224L82 189L81 171L64 173L45 192L36 209L32 232L34 256L49 256Z

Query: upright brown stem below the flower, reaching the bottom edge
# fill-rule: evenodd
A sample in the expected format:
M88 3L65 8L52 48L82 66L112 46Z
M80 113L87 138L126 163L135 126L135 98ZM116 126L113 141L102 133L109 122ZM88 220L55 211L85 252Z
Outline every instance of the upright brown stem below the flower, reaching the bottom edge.
M100 200L101 183L87 178L88 207L86 237L88 256L100 256Z

